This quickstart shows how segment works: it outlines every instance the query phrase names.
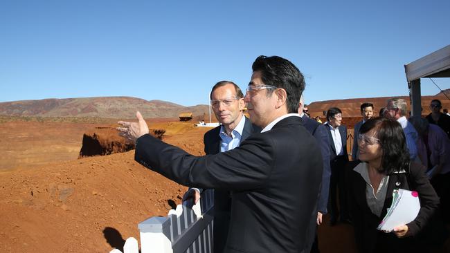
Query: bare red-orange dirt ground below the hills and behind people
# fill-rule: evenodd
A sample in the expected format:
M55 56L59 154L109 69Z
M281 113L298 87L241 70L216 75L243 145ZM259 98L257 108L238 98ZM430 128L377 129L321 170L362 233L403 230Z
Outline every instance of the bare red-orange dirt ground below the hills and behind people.
M357 120L344 119L349 129ZM165 131L165 142L204 154L208 128L177 118L147 122ZM96 118L0 119L1 252L109 252L130 236L139 240L138 223L181 203L186 187L138 165L134 151L78 159L85 133L109 129L102 141L121 142L114 127L116 120ZM321 252L355 252L352 227L327 221L319 227Z

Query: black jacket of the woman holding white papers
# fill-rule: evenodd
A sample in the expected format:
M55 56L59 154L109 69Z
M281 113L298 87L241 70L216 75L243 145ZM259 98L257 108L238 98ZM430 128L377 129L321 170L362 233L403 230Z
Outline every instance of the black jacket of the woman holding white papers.
M414 243L412 241L413 238L409 238L409 240L407 238L396 238L392 233L384 234L384 232L377 230L379 223L386 216L387 209L392 203L394 189L410 189L419 193L420 212L414 221L407 224L407 236L415 236L421 229L424 229L438 209L439 198L426 177L425 167L418 163L411 162L409 176L406 176L406 173L390 175L381 217L372 214L367 205L366 181L354 170L349 173L351 187L350 211L359 252L374 252L378 240L382 241L378 241L378 243L389 244L391 248L396 248L401 243L405 244L401 248L408 247L408 245Z

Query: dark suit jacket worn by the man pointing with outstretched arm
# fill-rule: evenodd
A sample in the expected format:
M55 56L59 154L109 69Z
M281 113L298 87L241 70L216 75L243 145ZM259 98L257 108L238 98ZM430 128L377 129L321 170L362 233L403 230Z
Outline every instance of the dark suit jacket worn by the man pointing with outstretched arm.
M322 157L299 117L202 157L146 134L136 141L135 160L181 185L233 191L225 252L298 253L309 246L322 176L314 168Z

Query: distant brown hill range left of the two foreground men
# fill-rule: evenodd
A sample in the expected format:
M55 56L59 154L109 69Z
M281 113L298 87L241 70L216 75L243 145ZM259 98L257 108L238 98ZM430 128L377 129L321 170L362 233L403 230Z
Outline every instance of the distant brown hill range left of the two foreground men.
M66 99L1 102L0 115L32 117L134 118L140 111L145 118L178 118L190 112L194 118L207 118L208 105L181 106L161 100L137 97L82 97Z

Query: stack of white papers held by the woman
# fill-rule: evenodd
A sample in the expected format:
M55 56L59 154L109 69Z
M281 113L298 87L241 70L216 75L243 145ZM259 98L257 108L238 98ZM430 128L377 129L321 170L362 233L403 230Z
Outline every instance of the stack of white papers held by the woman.
M406 225L414 221L420 210L419 194L417 191L395 189L393 191L393 203L388 208L388 213L377 229L384 232L392 232L395 227Z

